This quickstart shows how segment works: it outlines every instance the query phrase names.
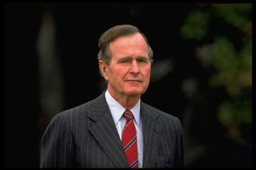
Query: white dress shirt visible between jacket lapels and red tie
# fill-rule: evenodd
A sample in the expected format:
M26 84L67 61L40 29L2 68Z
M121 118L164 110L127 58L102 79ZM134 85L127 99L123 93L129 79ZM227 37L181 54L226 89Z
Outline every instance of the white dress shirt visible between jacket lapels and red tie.
M118 103L118 101L115 101L113 97L111 97L108 90L106 90L105 93L106 102L107 105L110 108L110 113L112 114L112 117L114 119L114 124L116 128L118 129L118 135L120 137L120 140L122 140L122 130L126 125L126 118L122 117L122 113L125 112L125 108L122 107ZM130 111L134 114L134 125L136 128L136 135L137 135L137 145L138 145L138 168L142 168L143 164L143 133L142 133L142 119L140 115L140 100L138 103L134 106L133 109L130 109Z

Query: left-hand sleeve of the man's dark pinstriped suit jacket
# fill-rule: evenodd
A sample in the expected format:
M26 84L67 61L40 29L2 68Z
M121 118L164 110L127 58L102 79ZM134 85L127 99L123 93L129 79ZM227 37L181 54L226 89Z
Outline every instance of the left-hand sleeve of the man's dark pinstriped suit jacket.
M42 136L40 168L76 167L70 114L58 113Z

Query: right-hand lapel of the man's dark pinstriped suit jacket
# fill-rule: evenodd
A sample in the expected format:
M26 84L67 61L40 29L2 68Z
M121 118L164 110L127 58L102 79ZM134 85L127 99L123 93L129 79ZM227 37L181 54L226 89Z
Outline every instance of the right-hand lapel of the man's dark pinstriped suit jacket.
M158 158L158 133L160 125L157 114L152 113L144 103L141 104L141 117L143 128L143 168L154 168Z

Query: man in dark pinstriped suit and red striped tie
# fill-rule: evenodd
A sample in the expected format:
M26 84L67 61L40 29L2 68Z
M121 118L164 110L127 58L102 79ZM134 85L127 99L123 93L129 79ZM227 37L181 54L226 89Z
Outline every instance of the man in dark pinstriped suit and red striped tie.
M150 83L153 51L137 27L114 26L99 39L107 89L58 113L42 137L42 168L184 167L177 117L140 98Z

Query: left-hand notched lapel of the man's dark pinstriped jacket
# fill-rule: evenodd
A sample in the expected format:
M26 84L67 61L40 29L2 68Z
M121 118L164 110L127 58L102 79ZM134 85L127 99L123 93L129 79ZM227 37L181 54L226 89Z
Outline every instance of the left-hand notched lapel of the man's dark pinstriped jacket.
M110 109L106 103L105 93L102 93L91 105L88 117L92 120L89 129L106 155L118 168L128 168L125 153L114 125Z

